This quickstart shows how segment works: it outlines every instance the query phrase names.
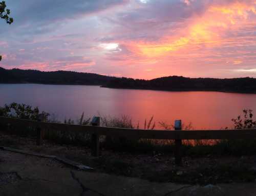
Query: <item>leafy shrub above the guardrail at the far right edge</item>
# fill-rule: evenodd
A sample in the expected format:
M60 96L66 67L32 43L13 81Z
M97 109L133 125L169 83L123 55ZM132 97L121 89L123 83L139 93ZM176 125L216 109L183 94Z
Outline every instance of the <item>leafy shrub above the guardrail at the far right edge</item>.
M252 129L256 128L256 120L253 120L252 110L243 110L243 116L232 118L235 129Z

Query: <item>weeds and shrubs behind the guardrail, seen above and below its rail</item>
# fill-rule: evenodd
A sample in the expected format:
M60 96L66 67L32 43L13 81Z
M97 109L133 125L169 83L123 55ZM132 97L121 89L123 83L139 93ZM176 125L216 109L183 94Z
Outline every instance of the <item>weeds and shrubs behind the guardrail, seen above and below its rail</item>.
M256 121L252 119L251 110L243 110L244 115L232 119L236 129L253 128ZM0 108L0 114L8 117L37 119L42 114L46 121L60 122L50 116L47 112L39 112L39 109L27 106L25 104L12 103ZM91 118L84 117L84 113L76 120L65 119L65 124L89 125ZM173 130L174 126L159 122L159 125L166 130ZM1 125L0 125L1 126ZM100 117L100 126L117 128L140 128L139 123L134 126L132 119L127 116L122 117ZM156 122L154 116L149 120L145 119L142 129L154 129ZM1 128L1 127L0 127ZM192 130L191 124L182 125L183 130ZM20 127L16 125L2 125L2 130L8 134L18 134L21 136L36 136L36 130L33 127ZM62 144L90 146L91 135L87 133L78 133L72 131L54 131L45 130L45 139L52 140ZM173 153L174 140L156 140L156 139L127 139L125 137L104 137L101 136L101 148L121 152L134 153ZM206 156L206 155L254 155L256 154L256 140L183 140L182 152L185 156Z

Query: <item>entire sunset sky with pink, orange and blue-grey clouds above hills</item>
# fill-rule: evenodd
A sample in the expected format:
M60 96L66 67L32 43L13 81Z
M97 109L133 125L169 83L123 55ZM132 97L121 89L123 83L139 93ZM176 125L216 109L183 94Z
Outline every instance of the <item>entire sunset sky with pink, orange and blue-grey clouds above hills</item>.
M256 0L6 0L0 66L256 78Z

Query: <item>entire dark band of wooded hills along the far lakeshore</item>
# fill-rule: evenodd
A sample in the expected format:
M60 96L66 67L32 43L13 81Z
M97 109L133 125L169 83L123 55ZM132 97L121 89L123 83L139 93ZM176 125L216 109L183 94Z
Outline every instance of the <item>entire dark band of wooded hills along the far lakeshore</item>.
M167 91L223 91L256 93L254 78L185 78L170 76L153 80L116 78L74 71L38 71L0 67L0 83L100 85L108 88Z

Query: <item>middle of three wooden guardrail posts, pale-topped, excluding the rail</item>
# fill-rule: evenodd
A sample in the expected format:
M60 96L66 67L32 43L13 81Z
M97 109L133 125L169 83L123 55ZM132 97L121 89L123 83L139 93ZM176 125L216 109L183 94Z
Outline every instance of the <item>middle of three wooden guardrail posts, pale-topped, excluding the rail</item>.
M100 125L100 117L94 116L91 121L92 126L99 126ZM93 156L99 156L99 134L93 133L92 134L92 141L91 141L91 152Z

